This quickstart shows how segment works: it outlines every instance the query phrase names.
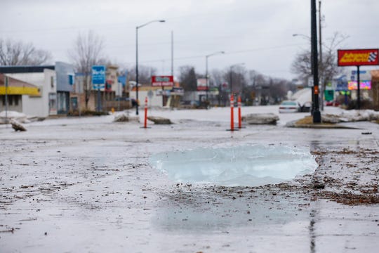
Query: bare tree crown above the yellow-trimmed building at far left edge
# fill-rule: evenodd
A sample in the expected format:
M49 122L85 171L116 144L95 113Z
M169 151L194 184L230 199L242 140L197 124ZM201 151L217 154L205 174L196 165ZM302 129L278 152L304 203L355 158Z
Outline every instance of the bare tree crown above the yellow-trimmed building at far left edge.
M0 39L0 65L42 65L51 61L51 53L31 43Z

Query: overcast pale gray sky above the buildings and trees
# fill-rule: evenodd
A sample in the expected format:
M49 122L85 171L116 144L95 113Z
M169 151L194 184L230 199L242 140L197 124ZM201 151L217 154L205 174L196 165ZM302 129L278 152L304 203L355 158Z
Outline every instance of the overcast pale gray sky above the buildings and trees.
M245 63L272 77L292 79L295 53L309 46L310 0L0 0L0 37L32 42L69 62L67 51L79 32L93 30L105 39L105 53L119 65L135 65L135 27L139 30L139 62L171 72L193 65L209 70ZM317 1L318 6L318 1ZM379 47L378 0L323 0L323 40L334 32L348 36L341 48Z

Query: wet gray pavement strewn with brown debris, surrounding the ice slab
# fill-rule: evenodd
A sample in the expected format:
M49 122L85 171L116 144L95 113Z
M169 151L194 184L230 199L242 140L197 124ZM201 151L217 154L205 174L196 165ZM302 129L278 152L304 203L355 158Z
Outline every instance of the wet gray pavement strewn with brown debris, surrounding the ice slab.
M379 128L346 125L356 129L230 132L204 119L140 129L111 117L1 126L0 252L377 252ZM319 168L224 187L173 182L149 164L164 151L255 144L309 148Z

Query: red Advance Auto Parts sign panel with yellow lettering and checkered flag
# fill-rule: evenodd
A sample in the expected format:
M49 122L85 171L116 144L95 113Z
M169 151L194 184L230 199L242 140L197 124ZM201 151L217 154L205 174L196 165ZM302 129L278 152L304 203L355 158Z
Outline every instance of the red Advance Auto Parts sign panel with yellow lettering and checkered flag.
M338 50L338 66L379 65L379 49Z

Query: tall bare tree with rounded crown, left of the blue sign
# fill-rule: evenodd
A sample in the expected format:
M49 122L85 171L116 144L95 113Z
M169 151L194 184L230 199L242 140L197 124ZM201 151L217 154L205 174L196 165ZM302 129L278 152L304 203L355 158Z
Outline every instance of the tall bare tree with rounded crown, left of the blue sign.
M84 93L86 96L86 108L91 94L91 71L93 65L105 65L107 60L103 57L104 39L88 31L86 34L78 34L72 49L69 50L69 58L74 63L77 72L84 75Z

